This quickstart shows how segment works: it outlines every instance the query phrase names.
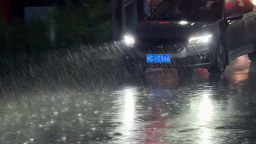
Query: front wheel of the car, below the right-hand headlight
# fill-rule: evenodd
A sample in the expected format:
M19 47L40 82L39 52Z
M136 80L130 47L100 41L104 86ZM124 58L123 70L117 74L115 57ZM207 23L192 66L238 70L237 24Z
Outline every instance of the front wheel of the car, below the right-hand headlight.
M211 66L208 70L208 72L211 75L219 75L222 74L227 65L227 51L225 47L219 43L217 53L216 53L216 60L213 66Z

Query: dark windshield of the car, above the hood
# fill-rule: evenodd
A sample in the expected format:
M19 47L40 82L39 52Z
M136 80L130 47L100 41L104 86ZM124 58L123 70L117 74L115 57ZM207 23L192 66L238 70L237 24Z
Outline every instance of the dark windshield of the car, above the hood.
M214 21L221 18L222 0L165 0L150 20Z

